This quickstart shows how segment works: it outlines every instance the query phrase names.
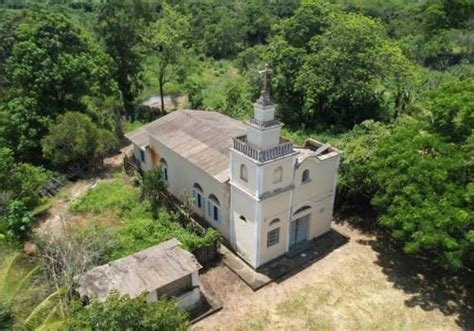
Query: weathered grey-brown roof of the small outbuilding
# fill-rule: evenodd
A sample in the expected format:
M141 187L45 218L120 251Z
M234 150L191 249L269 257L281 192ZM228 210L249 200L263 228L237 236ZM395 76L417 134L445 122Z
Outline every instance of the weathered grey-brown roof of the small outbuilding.
M105 300L111 290L137 297L188 276L202 266L173 238L81 275L76 291L82 297Z

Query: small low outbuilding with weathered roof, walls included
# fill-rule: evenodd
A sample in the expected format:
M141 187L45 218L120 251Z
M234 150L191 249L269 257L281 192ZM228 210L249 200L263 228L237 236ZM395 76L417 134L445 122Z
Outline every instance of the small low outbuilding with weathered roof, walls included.
M173 238L96 267L79 277L76 291L85 300L101 301L112 290L132 298L147 292L148 302L167 296L175 298L179 307L192 309L201 300L198 271L202 266L180 245Z

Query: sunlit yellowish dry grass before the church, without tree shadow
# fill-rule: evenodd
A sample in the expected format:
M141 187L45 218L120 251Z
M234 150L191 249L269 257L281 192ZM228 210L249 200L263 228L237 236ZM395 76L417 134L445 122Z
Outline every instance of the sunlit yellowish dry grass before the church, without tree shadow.
M329 272L318 273L314 265L311 281L273 307L247 314L237 330L455 330L455 316L438 310L408 307L411 295L387 281L373 263L373 251L356 243L346 245L352 253L335 261ZM355 251L354 251L355 250ZM365 251L365 252L364 252ZM372 255L372 256L371 256ZM331 259L332 256L328 257ZM329 262L329 261L325 261ZM289 285L282 283L278 286ZM295 287L292 284L291 287ZM296 285L297 286L297 285ZM258 292L257 292L258 293ZM277 300L277 299L276 299Z

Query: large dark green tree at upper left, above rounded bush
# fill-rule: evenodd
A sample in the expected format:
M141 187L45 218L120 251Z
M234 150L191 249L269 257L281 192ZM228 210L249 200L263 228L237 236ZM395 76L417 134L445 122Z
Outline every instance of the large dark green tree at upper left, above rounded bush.
M66 15L26 14L4 63L11 88L0 107L0 141L17 158L38 162L40 140L56 116L86 111L83 97L110 93L109 60Z

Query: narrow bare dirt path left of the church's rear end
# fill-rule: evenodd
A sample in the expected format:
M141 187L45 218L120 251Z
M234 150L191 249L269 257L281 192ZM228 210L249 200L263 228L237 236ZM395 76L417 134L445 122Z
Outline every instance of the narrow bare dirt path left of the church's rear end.
M48 211L39 219L35 232L40 235L61 235L66 225L79 221L79 217L69 213L71 202L95 186L98 181L110 178L113 172L122 166L125 154L130 154L132 145L120 150L120 153L104 160L104 170L97 175L68 184L54 199Z

